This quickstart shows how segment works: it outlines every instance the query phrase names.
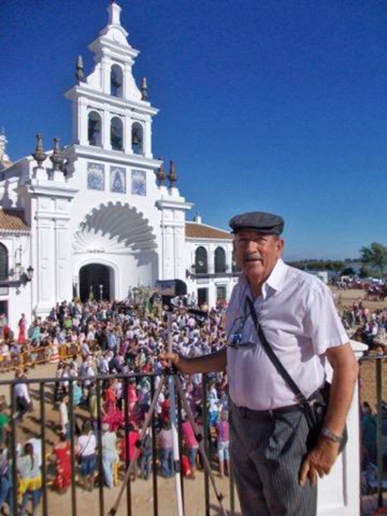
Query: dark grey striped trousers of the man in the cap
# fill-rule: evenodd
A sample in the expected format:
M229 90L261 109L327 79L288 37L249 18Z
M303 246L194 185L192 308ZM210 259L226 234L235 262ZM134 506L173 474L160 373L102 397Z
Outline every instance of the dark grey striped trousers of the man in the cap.
M230 455L243 516L315 516L317 488L299 485L308 424L300 411L268 421L232 406Z

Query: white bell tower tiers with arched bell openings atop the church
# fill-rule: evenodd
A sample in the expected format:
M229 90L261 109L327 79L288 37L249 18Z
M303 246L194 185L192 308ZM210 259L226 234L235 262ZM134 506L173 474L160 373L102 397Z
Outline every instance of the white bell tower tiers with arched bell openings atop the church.
M132 68L139 52L128 43L120 22L121 7L111 2L108 23L88 48L94 70L85 77L82 56L76 61L76 85L65 93L73 104L73 140L83 147L152 159L152 117L147 79L140 88Z

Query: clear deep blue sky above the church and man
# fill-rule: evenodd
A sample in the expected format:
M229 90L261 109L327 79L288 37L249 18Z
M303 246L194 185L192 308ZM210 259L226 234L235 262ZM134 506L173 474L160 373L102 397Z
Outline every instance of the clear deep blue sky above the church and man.
M12 159L42 131L71 140L78 54L107 23L108 0L2 5L0 126ZM356 257L387 245L385 2L121 0L147 76L153 152L175 159L203 222L236 213L286 221L286 258Z

